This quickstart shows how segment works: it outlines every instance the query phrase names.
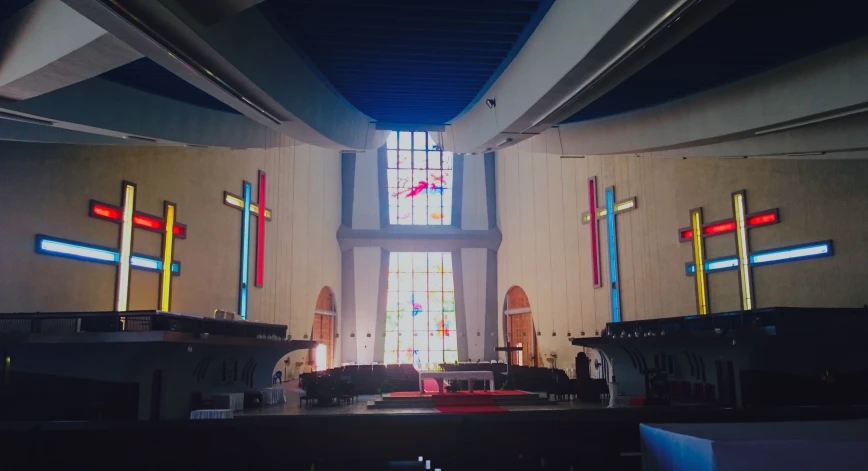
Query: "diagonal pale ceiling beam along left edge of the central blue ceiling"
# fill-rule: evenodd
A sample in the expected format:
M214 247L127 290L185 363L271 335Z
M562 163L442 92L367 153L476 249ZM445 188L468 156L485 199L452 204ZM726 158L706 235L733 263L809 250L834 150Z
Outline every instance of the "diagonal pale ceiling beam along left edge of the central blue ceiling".
M139 53L263 126L313 145L333 149L375 147L377 140L385 139L384 135L381 136L374 131L373 124L366 116L351 109L345 102L344 109L339 110L343 113L339 113L338 110L323 112L318 108L310 116L305 115L305 110L296 115L294 113L296 110L284 107L212 47L200 35L204 30L194 30L161 2L63 1ZM250 10L240 16L251 12L256 13L255 10ZM235 41L240 44L246 42L249 45L252 38L247 37L247 34L262 36L265 32L248 30L246 33L240 31L230 31L230 33L232 38L229 42L234 46ZM256 45L258 47L255 50L248 49L246 53L269 62L263 57L268 52L267 45L258 41ZM273 57L270 61L277 61L277 59ZM302 75L312 74L306 67L292 72ZM321 82L317 84L324 87ZM317 90L300 89L294 92L294 96L299 101L318 101L323 98ZM355 114L355 119L344 119L343 122L337 123L333 120L336 114L342 118Z

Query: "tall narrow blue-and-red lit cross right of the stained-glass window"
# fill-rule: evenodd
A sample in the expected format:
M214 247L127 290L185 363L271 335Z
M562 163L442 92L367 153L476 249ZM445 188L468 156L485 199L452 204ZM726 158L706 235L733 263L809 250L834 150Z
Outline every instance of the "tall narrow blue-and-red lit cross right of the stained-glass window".
M582 224L591 227L591 269L594 288L603 286L600 275L600 228L597 219L606 219L606 233L609 239L609 281L611 283L612 322L621 322L621 295L618 285L618 240L615 216L636 209L636 197L615 202L615 187L606 188L606 204L597 207L597 177L588 179L588 211L582 213ZM594 214L596 217L591 217Z

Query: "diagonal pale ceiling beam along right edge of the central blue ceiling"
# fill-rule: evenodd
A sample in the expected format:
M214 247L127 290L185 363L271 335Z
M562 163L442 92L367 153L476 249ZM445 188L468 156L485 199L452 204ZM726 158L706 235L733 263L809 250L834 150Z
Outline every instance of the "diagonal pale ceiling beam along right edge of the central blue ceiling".
M732 1L555 2L486 93L496 106L482 100L451 122L447 149L483 152L539 134L618 85Z

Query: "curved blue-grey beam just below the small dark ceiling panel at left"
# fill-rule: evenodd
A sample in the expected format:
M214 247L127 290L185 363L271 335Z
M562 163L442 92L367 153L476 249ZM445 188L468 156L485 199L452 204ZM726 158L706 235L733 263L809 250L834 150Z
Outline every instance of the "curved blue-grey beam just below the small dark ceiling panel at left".
M100 78L29 100L0 103L0 110L51 121L54 128L114 138L131 135L169 144L236 148L263 147L270 142L266 140L268 128L244 116L152 95Z

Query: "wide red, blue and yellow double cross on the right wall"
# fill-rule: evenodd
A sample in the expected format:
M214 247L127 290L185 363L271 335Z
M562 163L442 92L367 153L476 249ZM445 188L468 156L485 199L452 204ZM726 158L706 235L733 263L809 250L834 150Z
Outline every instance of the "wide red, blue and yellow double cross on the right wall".
M688 276L693 276L695 279L696 311L699 315L708 314L710 310L707 279L710 273L738 270L741 307L743 310L749 310L754 308L751 267L832 255L831 240L751 253L748 229L779 223L778 209L748 214L746 192L741 190L732 194L732 212L734 216L732 218L703 223L702 208L691 209L690 227L678 230L678 238L681 242L691 242L693 245L693 262L686 264L686 272ZM737 254L707 260L704 239L729 233L735 234Z

